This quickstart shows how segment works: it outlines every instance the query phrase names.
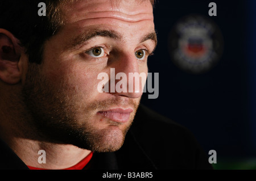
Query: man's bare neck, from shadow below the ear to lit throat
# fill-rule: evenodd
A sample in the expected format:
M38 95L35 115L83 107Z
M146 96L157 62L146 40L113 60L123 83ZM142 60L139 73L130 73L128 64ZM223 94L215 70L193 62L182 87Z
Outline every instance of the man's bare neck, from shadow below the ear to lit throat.
M13 96L12 99L0 100L0 137L26 165L42 169L66 169L79 163L91 152L47 140L43 134L39 134L26 108L11 100L15 100ZM39 150L45 151L46 163L39 163L42 158Z

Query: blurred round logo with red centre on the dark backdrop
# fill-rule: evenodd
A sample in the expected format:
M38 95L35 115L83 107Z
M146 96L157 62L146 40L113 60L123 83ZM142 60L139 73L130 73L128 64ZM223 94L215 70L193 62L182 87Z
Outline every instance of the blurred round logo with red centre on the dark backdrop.
M169 37L171 59L180 69L201 74L220 60L223 39L217 25L209 18L189 15L177 22Z

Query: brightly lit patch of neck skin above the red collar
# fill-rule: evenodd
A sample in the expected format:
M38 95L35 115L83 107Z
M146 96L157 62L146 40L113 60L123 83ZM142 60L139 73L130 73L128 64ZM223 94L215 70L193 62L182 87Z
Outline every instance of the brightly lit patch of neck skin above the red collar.
M89 150L73 145L54 144L35 140L15 138L11 148L27 166L42 169L67 169L84 159ZM43 153L40 151L44 151ZM42 163L42 161L45 161Z

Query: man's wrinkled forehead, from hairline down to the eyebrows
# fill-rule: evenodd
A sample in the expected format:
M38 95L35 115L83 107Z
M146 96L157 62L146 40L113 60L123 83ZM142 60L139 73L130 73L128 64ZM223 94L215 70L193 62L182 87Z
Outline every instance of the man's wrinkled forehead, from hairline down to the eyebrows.
M88 43L86 40L100 31L100 36L115 35L122 43L135 44L146 37L156 44L156 36L148 38L155 32L152 11L150 0L76 0L64 7L64 26L54 39L63 49L76 49L75 45ZM112 32L108 33L111 36L106 32Z

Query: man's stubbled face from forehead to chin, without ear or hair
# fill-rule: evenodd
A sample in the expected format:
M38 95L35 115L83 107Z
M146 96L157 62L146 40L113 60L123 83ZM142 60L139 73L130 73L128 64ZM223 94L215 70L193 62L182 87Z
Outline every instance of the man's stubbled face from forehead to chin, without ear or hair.
M28 67L24 101L38 130L52 141L118 150L142 91L101 93L97 77L110 77L110 68L127 77L147 73L147 56L155 48L152 5L77 1L64 14L64 26L44 45L42 65Z

